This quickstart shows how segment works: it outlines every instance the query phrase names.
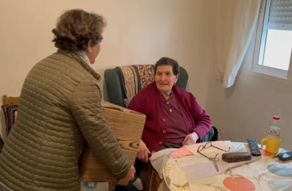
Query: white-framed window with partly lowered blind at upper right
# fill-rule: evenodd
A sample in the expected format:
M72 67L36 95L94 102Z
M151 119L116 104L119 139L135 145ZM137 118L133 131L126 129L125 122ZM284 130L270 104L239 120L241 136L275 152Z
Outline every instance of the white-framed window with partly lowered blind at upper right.
M292 1L262 0L252 69L287 78L292 60L291 50Z

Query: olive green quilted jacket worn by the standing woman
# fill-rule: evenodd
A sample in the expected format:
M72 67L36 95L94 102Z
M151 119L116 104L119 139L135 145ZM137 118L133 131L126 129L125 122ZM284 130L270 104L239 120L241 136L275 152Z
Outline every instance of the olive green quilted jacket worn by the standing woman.
M0 183L11 190L80 190L85 142L113 175L131 166L102 115L100 75L80 56L58 52L25 78L17 120L0 155Z

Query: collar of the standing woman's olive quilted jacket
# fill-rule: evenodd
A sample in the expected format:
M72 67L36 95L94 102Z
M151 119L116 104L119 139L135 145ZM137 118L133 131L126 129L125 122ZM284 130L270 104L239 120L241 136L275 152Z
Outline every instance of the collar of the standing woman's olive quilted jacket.
M74 60L78 61L78 63L80 63L80 65L82 65L82 67L84 67L89 72L89 74L91 74L94 78L96 78L96 80L98 80L98 82L100 82L100 74L98 74L94 69L92 69L91 66L89 66L90 63L88 63L89 61L87 61L87 58L84 58L82 55L76 52L66 52L62 49L58 49L57 52L61 54L66 54L67 56L74 58Z

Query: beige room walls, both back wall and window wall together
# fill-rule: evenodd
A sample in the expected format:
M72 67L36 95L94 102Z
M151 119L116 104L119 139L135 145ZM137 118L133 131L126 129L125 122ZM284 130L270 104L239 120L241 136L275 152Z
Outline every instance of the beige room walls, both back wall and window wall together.
M245 142L253 137L259 142L267 135L271 117L280 115L282 146L292 150L291 84L250 72L252 45L234 87L224 89L216 80L214 1L82 2L86 3L0 1L0 95L19 95L30 68L56 50L50 42L56 18L63 10L82 8L99 12L108 21L102 52L93 66L102 76L117 65L154 63L170 56L188 70L188 90L206 106L224 139ZM100 86L104 87L103 80Z

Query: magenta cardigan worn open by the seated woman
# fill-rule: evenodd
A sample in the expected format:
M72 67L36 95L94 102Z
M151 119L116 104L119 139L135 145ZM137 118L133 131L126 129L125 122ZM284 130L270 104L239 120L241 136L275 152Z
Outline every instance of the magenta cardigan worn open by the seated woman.
M199 139L203 139L211 130L210 116L196 102L192 93L185 91L176 85L172 87L177 104L186 124L188 134L196 132ZM155 82L139 91L131 100L128 109L144 113L146 122L142 133L142 140L150 152L157 152L164 143L166 137L166 123L164 111L160 99L160 93ZM179 128L179 127L178 127ZM199 140L198 140L199 141Z

